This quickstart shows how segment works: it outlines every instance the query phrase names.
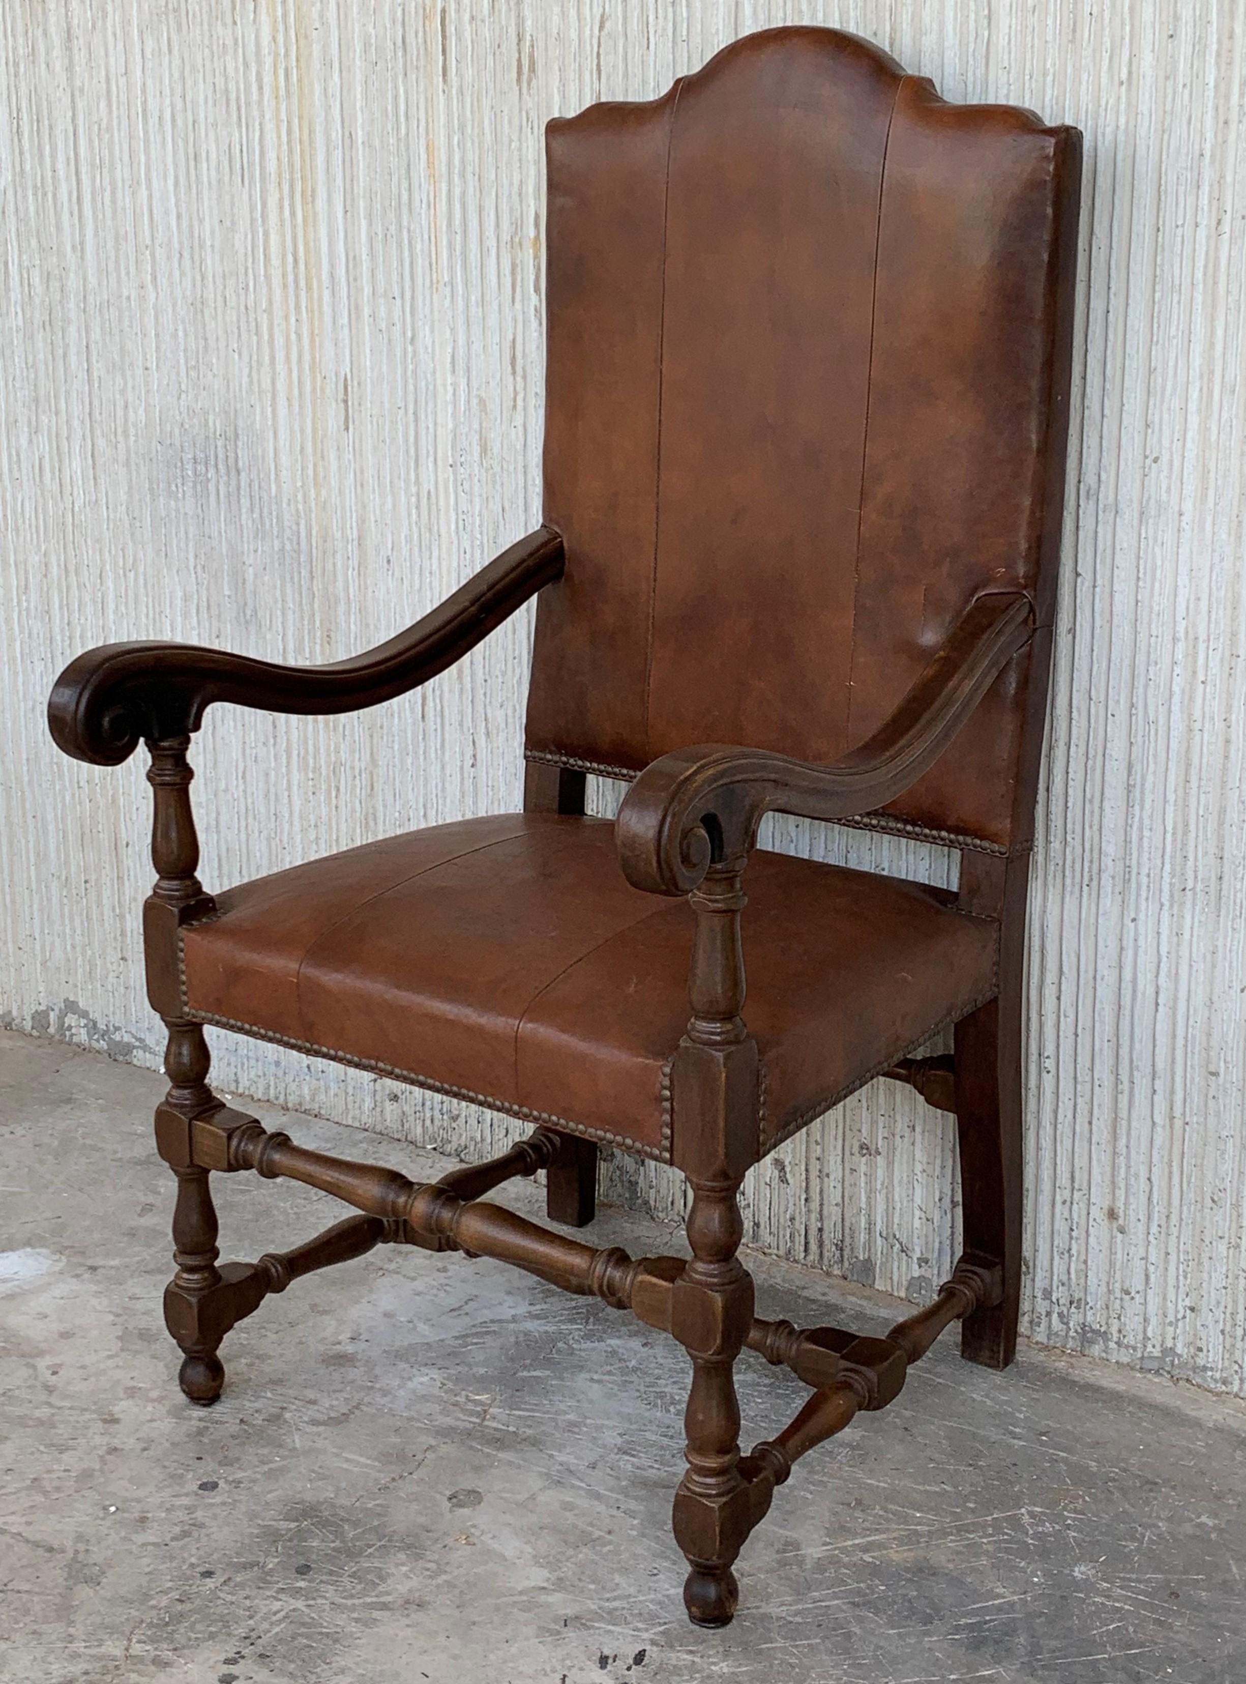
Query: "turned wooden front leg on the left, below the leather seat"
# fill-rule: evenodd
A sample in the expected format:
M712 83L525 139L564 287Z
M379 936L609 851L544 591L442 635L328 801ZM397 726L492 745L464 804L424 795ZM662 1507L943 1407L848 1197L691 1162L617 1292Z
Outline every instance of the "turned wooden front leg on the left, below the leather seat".
M182 1116L197 1116L216 1105L207 1086L210 1056L199 1024L185 1019L165 1019L168 1047L165 1071L168 1095L165 1106ZM165 1288L165 1324L182 1347L184 1361L178 1374L182 1391L192 1403L210 1404L221 1396L226 1371L217 1357L217 1347L226 1329L214 1325L210 1314L221 1271L217 1218L209 1187L209 1172L195 1165L175 1165L177 1204L173 1206L173 1261L177 1273Z

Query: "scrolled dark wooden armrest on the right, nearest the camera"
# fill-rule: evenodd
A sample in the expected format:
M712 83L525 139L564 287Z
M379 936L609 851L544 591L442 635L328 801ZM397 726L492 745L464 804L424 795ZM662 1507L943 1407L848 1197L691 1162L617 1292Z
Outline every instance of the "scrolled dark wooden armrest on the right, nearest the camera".
M746 854L763 813L850 818L886 807L929 771L1002 667L1030 637L1020 591L978 596L896 711L828 765L704 743L663 754L628 790L615 825L628 882L689 894L714 859Z

